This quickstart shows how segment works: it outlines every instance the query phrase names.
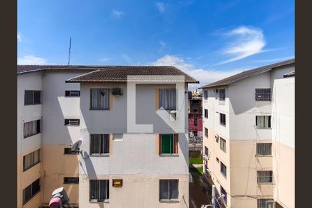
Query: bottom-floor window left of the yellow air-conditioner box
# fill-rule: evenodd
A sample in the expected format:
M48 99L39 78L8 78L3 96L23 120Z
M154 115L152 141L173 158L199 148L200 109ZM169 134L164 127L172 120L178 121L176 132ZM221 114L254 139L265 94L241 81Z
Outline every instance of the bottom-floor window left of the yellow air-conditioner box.
M90 180L90 202L109 200L109 180Z

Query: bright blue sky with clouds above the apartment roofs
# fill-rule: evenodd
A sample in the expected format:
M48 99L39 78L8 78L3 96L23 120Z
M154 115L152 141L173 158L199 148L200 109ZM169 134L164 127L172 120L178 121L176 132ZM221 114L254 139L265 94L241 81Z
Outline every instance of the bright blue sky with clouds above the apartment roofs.
M18 0L19 64L175 65L211 83L295 54L288 0Z

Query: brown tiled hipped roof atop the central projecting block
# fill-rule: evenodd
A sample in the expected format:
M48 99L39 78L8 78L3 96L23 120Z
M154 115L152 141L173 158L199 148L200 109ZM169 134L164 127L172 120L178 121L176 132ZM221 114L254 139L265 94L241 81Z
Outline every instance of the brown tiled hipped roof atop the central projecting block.
M81 76L67 80L67 83L103 83L103 82L126 82L127 77L134 80L153 81L153 76L160 80L178 80L174 76L184 76L186 83L199 83L180 69L172 66L111 66L101 67L96 71L85 73Z

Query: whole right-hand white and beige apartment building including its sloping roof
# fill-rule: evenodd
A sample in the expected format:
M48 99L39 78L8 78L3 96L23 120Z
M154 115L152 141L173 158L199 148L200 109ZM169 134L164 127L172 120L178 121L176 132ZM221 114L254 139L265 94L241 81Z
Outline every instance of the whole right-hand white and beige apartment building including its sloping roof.
M293 71L294 59L201 87L205 176L226 207L295 206Z

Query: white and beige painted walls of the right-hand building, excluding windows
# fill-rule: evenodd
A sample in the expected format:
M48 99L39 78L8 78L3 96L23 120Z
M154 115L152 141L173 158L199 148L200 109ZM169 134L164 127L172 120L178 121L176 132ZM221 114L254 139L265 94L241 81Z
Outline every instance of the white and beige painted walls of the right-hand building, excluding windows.
M278 131L284 132L288 126L290 129L286 132L291 132L286 140L294 142L294 113L291 110L291 115L288 115L284 111L289 105L293 107L294 100L285 101L284 106L281 104L284 100L282 95L288 89L279 84L286 82L283 78L285 73L294 70L294 65L279 67L229 85L203 88L208 91L208 98L203 98L202 105L203 113L205 109L208 110L208 118L203 118L202 130L208 131L207 136L203 133L205 175L211 177L218 193L221 187L227 193L227 207L258 207L258 200L270 199L276 202L281 198L287 201L284 207L294 207L294 193L284 187L288 184L286 180L290 180L293 185L294 146L291 145L294 144L288 144L286 148L284 144L277 143L281 136L278 139L275 137ZM261 88L272 89L272 101L255 100L255 89ZM219 98L220 89L225 89L225 101ZM280 100L276 100L276 97L280 97ZM275 107L275 101L281 107ZM220 114L225 115L225 124L221 123ZM284 126L279 125L279 130L277 122L280 121L274 119L278 114L288 116L287 120L281 122ZM271 116L271 127L257 128L256 116ZM272 144L270 155L257 154L257 144L261 143ZM208 151L206 149L205 152L205 148ZM280 150L278 157L276 149ZM290 164L288 159L291 159ZM221 171L221 163L226 166L225 174ZM286 168L292 170L288 175L284 175ZM272 171L272 182L259 183L257 171Z

